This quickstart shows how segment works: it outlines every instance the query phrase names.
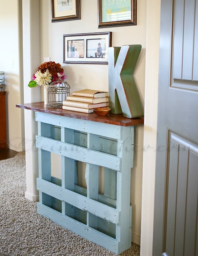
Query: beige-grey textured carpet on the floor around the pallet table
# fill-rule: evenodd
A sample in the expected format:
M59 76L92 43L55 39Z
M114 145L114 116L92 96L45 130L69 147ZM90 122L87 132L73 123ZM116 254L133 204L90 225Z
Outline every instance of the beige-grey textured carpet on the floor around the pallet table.
M36 213L28 201L25 154L0 161L0 256L115 256ZM138 256L140 246L120 256Z

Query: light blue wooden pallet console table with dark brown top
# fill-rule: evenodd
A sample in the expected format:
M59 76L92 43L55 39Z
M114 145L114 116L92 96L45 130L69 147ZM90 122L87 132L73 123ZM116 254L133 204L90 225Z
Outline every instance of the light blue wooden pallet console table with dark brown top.
M144 119L100 117L47 108L43 102L17 107L36 111L37 212L111 252L130 248L134 125ZM51 152L61 155L62 179L51 176ZM87 188L78 184L77 161L86 163ZM103 195L98 192L100 166Z

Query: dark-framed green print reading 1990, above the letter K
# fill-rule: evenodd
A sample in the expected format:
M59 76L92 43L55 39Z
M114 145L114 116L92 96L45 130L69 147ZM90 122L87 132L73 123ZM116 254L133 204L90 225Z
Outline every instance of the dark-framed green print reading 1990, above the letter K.
M136 25L137 0L98 0L98 28Z

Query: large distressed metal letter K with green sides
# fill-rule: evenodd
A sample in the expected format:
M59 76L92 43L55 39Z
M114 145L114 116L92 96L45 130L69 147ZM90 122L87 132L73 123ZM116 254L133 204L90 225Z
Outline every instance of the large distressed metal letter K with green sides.
M144 115L133 78L140 51L140 44L109 48L109 107L113 114L123 113L128 118Z

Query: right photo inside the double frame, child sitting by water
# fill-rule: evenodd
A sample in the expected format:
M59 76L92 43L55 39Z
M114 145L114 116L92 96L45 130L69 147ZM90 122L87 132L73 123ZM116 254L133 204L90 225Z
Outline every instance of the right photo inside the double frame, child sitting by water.
M105 58L105 39L87 39L87 58Z

